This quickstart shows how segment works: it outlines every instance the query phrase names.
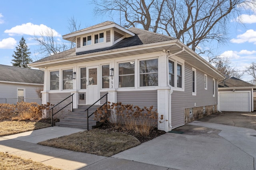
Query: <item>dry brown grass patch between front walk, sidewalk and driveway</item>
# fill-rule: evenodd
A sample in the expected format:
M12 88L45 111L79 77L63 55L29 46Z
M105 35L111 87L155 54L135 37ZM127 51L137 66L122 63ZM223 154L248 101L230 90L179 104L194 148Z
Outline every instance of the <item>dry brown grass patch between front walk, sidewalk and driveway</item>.
M102 129L92 129L90 131L50 139L38 144L101 156L112 156L140 145L140 141L132 135Z

